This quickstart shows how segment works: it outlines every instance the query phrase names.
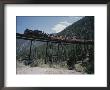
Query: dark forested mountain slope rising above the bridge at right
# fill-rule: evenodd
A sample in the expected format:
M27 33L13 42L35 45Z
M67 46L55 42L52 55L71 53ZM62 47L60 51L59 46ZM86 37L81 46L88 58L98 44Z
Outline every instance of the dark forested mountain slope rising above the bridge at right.
M72 25L66 27L58 35L76 36L76 38L93 40L94 39L94 16L86 16Z

